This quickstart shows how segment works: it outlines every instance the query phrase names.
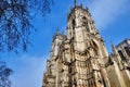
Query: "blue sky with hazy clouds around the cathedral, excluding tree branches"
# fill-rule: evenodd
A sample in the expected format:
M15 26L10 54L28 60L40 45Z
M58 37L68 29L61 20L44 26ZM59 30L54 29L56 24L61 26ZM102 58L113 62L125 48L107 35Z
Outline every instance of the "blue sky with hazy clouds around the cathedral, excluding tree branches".
M12 87L41 87L46 61L49 59L52 37L58 27L65 32L67 12L74 5L73 0L54 0L55 4L46 17L37 15L32 21L37 32L30 35L34 47L28 52L15 54L1 53L14 73L11 76ZM130 38L130 0L77 0L78 4L89 7L108 52L110 40L117 45L125 38Z

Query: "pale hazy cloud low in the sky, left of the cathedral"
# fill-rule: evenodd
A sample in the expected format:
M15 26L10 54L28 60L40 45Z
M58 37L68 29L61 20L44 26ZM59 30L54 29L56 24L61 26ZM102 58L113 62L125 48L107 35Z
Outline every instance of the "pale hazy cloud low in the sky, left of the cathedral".
M24 55L16 60L11 77L12 87L41 87L47 58Z

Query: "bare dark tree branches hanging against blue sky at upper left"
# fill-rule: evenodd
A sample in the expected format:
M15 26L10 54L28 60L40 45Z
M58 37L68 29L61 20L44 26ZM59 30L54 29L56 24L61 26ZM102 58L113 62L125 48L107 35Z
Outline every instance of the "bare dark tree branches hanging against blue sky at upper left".
M27 50L32 14L50 12L53 0L0 0L0 52Z

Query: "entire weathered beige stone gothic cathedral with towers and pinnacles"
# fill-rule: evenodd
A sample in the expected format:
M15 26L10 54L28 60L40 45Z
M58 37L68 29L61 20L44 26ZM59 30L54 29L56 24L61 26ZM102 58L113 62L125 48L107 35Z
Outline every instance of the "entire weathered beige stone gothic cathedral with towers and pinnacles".
M130 87L130 39L108 54L88 8L75 2L67 34L54 34L42 87Z

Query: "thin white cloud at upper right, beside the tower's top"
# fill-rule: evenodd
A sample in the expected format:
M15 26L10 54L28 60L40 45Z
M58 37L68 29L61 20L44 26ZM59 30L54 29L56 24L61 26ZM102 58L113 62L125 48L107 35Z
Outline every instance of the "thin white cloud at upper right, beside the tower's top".
M127 12L130 9L129 3L129 0L92 0L89 8L98 27L103 29ZM84 1L84 5L87 4Z

